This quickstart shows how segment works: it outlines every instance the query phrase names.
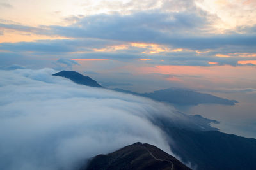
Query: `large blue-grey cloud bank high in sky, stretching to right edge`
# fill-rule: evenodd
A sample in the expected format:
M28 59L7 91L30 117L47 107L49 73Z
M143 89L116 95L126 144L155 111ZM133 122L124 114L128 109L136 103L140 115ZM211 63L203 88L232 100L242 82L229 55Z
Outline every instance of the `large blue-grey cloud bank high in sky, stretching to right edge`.
M67 27L51 26L51 31L72 38L159 43L193 50L256 45L255 34L211 34L205 31L211 22L205 18L206 14L198 13L144 11L131 15L90 15Z

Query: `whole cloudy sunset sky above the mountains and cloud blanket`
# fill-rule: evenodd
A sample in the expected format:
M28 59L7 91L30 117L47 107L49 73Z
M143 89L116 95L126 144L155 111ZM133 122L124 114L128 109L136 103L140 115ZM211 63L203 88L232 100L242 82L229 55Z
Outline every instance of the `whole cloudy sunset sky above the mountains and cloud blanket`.
M189 114L251 125L255 9L253 0L0 0L0 67L74 70L135 92L195 89L240 105Z

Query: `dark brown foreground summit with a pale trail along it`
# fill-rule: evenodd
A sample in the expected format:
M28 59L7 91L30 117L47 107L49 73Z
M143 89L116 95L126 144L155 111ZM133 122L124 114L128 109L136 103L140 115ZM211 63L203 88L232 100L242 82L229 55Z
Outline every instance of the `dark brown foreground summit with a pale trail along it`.
M189 170L175 157L147 143L134 143L108 155L97 155L82 169L159 169Z

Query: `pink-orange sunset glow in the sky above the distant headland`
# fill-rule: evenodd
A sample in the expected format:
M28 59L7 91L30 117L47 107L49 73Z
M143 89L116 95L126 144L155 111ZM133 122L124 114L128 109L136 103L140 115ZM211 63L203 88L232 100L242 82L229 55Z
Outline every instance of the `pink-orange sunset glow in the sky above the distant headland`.
M136 67L130 66L129 70L136 74L150 75L150 74L163 74L163 75L177 75L177 76L162 76L164 80L173 81L177 83L187 82L191 87L209 88L209 85L234 85L234 83L244 83L239 80L252 80L254 76L255 67L252 66L218 66L212 65L211 67L205 66L173 66L173 65L158 65L158 66L145 66ZM238 79L237 79L238 78ZM202 81L203 80L203 81ZM255 80L255 79L254 79ZM198 83L201 82L201 83ZM253 85L255 82L250 83Z

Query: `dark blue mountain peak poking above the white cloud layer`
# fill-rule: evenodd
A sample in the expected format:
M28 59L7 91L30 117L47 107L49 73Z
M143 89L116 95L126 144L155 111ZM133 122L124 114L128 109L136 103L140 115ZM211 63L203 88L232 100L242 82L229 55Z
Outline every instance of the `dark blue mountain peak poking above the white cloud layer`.
M102 87L97 83L97 81L93 80L88 76L83 76L82 74L77 73L76 71L60 71L56 74L52 74L52 76L65 77L74 81L74 83L81 84L81 85L88 85L91 87Z

